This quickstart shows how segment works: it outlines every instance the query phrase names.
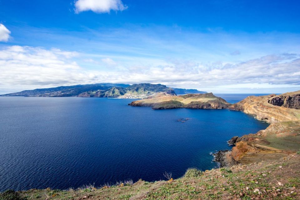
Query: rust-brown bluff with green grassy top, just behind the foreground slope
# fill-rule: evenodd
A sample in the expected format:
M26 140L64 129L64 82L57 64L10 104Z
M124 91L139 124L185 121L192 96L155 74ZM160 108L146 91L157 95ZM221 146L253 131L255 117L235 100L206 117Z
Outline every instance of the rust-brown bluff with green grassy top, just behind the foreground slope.
M300 121L270 124L256 134L238 138L231 150L231 157L244 164L281 158L299 150L299 133Z

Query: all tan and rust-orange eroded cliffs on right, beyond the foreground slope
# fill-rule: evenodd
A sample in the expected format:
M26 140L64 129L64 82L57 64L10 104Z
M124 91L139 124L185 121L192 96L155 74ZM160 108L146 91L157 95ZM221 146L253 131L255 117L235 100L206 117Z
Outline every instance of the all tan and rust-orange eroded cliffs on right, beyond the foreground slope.
M250 96L230 109L255 115L269 127L237 138L230 159L240 163L277 159L300 149L300 91L281 95Z

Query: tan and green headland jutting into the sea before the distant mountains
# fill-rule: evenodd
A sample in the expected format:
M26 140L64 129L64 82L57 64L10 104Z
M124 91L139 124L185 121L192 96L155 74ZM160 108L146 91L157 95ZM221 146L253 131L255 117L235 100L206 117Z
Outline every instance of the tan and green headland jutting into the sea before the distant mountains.
M154 110L172 108L197 108L197 109L222 109L227 108L230 103L224 99L206 94L186 94L181 96L167 96L157 94L147 99L133 101L130 106L152 107Z

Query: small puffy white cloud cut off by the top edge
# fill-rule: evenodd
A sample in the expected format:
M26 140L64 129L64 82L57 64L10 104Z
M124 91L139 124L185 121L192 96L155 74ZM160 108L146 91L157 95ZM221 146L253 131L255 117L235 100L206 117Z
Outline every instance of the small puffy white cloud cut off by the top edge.
M111 10L123 11L128 7L121 0L78 0L75 2L75 12L91 10L97 13L109 13Z

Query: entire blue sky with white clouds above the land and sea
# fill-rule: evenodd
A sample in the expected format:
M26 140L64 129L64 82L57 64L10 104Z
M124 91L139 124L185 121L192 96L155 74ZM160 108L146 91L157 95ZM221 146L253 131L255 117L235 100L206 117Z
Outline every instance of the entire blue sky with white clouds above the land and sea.
M90 83L300 90L300 1L0 0L0 94Z

